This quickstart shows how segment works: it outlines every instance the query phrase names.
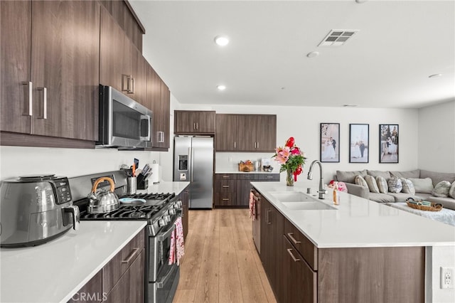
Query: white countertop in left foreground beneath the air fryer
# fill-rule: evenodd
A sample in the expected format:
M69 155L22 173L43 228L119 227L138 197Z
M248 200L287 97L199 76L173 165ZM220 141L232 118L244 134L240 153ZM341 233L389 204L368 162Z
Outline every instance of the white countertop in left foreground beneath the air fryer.
M31 248L1 248L0 302L67 302L146 221L81 221Z

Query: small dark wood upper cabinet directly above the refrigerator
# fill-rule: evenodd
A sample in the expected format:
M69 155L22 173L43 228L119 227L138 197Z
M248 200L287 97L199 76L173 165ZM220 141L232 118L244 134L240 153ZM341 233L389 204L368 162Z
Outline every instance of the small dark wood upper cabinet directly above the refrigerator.
M174 111L175 134L215 134L215 111Z

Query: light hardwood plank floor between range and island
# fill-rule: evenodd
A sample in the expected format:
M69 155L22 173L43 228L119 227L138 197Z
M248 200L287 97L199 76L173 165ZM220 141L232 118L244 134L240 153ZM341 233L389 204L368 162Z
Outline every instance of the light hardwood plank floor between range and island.
M189 211L173 302L277 302L252 240L247 209Z

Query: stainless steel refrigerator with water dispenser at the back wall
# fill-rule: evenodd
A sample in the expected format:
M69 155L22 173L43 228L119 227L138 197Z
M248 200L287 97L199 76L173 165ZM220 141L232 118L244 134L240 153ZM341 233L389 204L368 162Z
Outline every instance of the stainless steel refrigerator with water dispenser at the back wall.
M188 208L213 206L213 137L175 137L173 181L189 181Z

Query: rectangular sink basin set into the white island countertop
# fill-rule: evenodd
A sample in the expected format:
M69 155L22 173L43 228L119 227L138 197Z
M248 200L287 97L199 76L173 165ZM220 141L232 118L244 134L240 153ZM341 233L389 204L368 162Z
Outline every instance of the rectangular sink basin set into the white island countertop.
M336 209L319 198L314 198L301 191L271 191L270 194L280 201L284 206L294 210L324 210Z

